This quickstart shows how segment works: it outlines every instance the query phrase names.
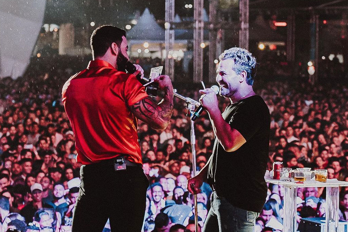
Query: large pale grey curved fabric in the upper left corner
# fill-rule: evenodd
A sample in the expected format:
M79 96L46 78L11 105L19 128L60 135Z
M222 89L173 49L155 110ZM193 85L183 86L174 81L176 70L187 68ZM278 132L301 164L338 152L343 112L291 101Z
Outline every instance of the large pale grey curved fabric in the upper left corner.
M42 27L45 0L0 0L0 77L23 75Z

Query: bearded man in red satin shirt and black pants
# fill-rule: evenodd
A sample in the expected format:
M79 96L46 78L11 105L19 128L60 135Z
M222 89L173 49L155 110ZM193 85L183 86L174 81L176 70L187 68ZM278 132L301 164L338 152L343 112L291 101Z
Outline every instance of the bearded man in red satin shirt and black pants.
M166 75L155 79L165 91L157 105L128 61L124 30L106 25L91 37L93 61L63 86L62 101L76 137L81 185L73 214L73 232L100 232L110 218L112 231L141 231L149 186L142 170L137 119L152 128L167 127L173 110L173 86Z

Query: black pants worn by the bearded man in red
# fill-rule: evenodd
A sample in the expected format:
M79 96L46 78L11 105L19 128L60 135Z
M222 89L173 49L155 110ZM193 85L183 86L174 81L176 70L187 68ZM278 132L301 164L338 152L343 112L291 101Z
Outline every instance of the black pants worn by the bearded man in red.
M140 232L149 181L141 167L115 171L112 162L82 165L72 232L102 232L110 218L112 232Z

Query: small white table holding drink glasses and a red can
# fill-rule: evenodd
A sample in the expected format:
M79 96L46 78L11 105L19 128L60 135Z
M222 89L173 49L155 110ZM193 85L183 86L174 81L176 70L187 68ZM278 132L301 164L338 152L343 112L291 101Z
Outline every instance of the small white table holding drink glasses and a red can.
M290 181L280 181L272 179L272 177L265 177L266 182L271 184L283 185L284 193L284 218L283 218L283 232L296 232L296 197L297 187L326 187L326 231L338 232L338 210L339 210L339 187L348 186L348 182L338 181L337 179L327 179L326 183L311 180L301 184L296 184Z

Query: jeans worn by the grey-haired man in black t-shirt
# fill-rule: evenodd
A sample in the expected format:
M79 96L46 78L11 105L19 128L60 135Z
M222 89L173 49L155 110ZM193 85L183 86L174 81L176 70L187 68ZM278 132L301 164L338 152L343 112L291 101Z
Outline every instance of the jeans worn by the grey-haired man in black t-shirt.
M253 232L258 216L259 213L235 207L213 192L203 232Z

